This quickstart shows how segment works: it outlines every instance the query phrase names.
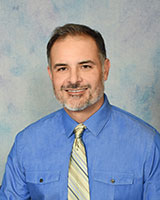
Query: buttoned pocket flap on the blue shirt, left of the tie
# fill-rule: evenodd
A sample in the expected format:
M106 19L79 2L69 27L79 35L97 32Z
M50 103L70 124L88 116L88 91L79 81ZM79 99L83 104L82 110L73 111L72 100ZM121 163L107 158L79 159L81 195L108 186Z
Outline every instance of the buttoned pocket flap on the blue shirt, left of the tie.
M26 172L26 182L34 184L46 184L58 181L60 177L59 172L51 171L28 171Z

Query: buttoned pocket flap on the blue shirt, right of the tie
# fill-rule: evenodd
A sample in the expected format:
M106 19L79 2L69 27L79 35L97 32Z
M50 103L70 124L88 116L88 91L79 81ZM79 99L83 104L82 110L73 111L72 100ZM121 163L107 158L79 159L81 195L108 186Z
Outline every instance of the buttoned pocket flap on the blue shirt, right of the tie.
M127 173L115 173L94 171L94 180L111 185L128 185L133 184L133 175Z

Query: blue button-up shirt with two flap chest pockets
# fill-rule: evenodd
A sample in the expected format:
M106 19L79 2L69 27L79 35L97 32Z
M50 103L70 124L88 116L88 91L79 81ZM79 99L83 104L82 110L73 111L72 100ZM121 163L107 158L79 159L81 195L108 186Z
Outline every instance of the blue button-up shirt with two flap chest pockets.
M91 200L160 200L160 135L135 116L102 107L84 122ZM61 109L20 132L0 200L67 200L77 122Z

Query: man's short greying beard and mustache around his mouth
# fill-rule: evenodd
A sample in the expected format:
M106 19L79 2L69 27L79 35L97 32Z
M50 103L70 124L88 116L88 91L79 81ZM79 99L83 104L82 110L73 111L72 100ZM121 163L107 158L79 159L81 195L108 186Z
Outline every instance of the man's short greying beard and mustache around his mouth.
M96 88L92 88L90 84L88 85L80 85L80 83L68 84L67 86L61 86L59 91L56 91L54 88L54 94L60 104L63 105L66 109L70 111L82 111L87 107L97 103L104 94L104 80L103 76L99 81ZM69 95L64 94L66 91L74 89L74 90L87 90L85 94L78 95Z

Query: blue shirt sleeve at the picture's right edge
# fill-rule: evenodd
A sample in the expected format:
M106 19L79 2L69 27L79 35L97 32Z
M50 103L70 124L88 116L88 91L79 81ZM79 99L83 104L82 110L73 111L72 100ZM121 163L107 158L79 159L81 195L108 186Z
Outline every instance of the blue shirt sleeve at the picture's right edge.
M160 134L158 132L146 161L143 197L143 200L160 199Z

